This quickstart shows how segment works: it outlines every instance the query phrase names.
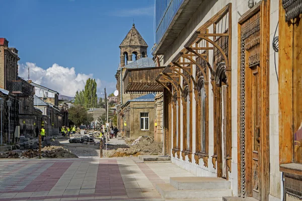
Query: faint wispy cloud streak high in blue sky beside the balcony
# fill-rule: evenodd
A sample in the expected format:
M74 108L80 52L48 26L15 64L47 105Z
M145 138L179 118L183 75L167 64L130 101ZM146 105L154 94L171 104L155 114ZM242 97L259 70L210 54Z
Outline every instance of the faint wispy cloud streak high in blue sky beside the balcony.
M145 7L145 8L117 10L117 11L111 12L110 15L115 16L115 17L153 16L154 15L154 6Z

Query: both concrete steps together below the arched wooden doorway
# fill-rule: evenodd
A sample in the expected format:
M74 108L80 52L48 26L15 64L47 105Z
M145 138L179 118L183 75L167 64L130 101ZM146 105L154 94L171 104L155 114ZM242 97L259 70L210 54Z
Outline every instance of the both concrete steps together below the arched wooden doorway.
M170 183L158 183L156 189L164 199L221 200L231 197L230 181L217 177L171 177Z

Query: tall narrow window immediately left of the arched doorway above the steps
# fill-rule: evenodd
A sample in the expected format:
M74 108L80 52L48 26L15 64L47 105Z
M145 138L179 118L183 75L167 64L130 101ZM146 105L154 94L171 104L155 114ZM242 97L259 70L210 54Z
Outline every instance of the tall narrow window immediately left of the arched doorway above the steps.
M204 87L200 90L201 107L200 107L200 151L205 152L205 90Z

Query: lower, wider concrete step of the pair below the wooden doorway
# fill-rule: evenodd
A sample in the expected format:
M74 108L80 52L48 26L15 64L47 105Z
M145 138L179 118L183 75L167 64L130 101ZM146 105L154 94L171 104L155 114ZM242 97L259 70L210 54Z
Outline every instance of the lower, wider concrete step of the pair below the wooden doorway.
M197 189L178 190L169 183L158 183L156 189L164 199L209 199L222 198L222 196L232 196L231 189Z

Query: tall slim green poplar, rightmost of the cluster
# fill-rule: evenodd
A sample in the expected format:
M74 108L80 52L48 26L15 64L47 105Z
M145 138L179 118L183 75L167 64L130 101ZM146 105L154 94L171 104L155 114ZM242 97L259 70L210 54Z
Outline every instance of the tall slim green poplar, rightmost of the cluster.
M87 108L94 108L98 105L97 82L95 79L87 79L84 94Z

